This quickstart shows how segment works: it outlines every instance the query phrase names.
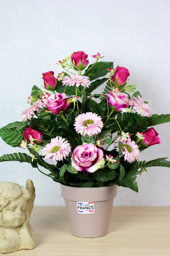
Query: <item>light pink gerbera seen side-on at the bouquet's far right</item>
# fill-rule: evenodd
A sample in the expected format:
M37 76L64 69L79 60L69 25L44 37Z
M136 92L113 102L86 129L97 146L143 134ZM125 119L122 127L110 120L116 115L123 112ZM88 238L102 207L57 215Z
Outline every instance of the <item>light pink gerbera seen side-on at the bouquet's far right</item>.
M141 97L138 95L136 97L132 97L132 106L134 111L136 111L141 116L151 116L151 114L148 112L152 112L153 110L148 106L148 104L144 103L144 100L141 99Z

